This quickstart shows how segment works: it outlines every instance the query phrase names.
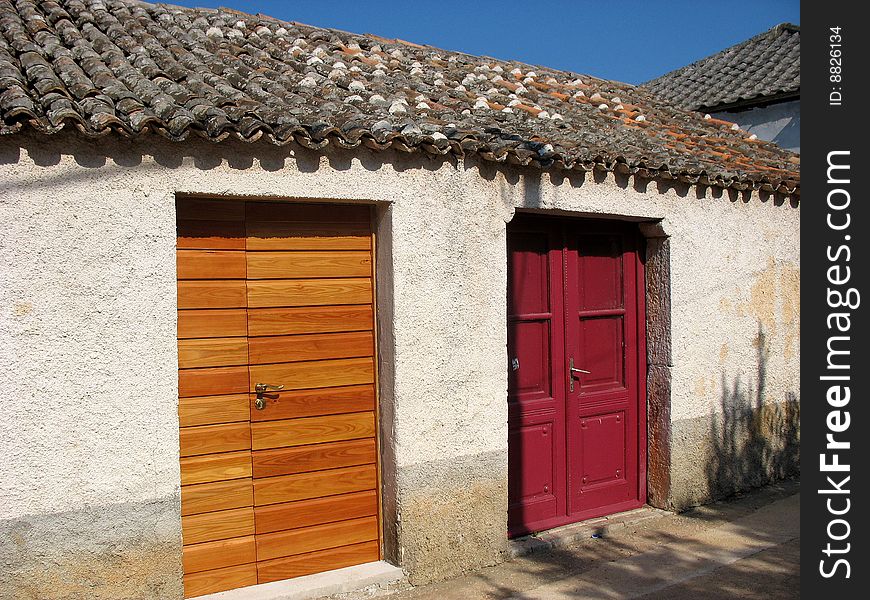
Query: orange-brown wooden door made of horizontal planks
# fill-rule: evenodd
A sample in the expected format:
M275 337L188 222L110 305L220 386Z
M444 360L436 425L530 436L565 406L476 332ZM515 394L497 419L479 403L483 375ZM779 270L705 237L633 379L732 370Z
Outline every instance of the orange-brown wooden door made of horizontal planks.
M185 596L378 560L369 208L177 212Z

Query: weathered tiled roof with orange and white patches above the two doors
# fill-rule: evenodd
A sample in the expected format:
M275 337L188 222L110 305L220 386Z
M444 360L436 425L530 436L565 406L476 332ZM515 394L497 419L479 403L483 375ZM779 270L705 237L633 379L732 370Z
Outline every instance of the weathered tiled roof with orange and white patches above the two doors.
M594 77L136 0L0 0L0 32L0 133L474 153L799 194L796 155Z

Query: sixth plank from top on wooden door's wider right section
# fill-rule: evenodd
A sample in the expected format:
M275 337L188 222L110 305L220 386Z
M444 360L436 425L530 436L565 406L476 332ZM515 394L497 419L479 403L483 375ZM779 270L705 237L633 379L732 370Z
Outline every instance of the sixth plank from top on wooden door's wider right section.
M250 364L358 358L374 354L371 331L257 337L251 338L249 345Z

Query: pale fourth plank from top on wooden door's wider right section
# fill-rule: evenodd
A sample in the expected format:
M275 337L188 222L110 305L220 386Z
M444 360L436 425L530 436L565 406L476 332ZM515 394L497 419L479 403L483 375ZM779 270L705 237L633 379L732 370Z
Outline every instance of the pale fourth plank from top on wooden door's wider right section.
M190 302L205 302L209 294L218 292L194 290L186 293L190 297ZM235 297L232 299L221 297L219 300L214 300L214 302L218 301L235 302L236 300ZM248 282L248 306L250 308L366 304L371 301L372 282L369 278L276 279ZM189 308L198 308L198 306L190 306Z

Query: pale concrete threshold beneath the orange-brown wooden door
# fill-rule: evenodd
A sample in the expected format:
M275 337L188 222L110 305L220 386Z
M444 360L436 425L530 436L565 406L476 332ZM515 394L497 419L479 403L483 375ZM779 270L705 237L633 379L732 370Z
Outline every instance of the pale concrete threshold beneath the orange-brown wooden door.
M385 561L344 567L294 579L197 596L197 600L313 600L334 594L386 586L405 577L402 569Z

